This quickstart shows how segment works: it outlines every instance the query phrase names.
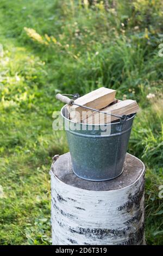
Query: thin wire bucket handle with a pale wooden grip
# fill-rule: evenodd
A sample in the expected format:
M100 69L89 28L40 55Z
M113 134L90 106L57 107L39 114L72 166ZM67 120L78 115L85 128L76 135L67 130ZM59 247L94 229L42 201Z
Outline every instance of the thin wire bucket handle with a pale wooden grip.
M67 96L73 96L73 99L69 99ZM111 113L108 113L108 112L104 112L104 111L100 111L100 110L97 110L95 108L91 108L91 107L86 107L86 106L83 106L83 105L79 105L77 103L74 102L75 99L78 99L79 97L79 94L78 93L75 93L75 94L56 94L56 99L57 100L60 100L70 106L72 105L76 105L76 106L79 106L79 107L83 107L83 108L86 108L86 109L90 109L91 111L96 111L96 112L99 112L99 113L103 113L103 114L106 114L106 115L112 115L113 117L117 117L117 118L120 118L120 123L124 123L126 120L127 120L127 115L116 115L116 114L111 114Z

